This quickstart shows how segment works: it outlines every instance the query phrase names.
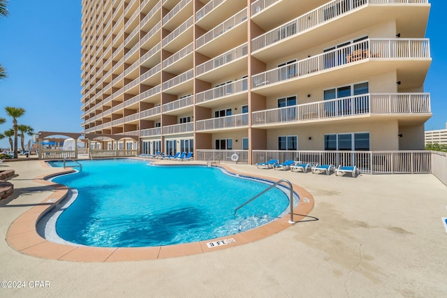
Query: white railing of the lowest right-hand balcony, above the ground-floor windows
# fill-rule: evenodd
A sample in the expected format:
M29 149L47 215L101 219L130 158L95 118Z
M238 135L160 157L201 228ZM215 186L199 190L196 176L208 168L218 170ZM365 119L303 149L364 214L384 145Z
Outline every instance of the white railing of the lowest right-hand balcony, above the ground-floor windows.
M256 111L252 125L351 117L365 114L430 113L430 94L360 94L316 103Z

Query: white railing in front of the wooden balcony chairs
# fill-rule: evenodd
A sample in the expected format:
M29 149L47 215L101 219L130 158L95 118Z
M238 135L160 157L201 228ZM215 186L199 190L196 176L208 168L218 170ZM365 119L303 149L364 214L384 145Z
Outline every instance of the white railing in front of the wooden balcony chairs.
M427 59L427 38L369 38L251 76L252 88L295 79L365 59Z

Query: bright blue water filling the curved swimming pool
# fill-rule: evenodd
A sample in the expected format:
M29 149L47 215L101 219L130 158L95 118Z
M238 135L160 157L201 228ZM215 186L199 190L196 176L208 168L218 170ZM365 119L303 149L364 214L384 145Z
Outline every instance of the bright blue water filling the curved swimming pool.
M155 166L132 159L81 163L82 172L52 179L78 190L78 198L56 222L59 237L75 244L140 247L202 241L256 228L288 209L286 193L273 188L235 215L240 204L268 185L217 167Z

